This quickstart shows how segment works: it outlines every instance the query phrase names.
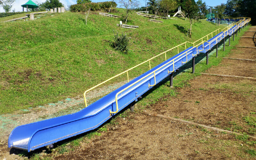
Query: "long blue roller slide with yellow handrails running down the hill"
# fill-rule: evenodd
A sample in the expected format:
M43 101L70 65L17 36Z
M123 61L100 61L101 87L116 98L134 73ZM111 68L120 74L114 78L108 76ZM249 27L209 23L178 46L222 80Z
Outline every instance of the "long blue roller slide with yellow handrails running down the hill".
M224 29L219 28L193 43L184 42L88 89L84 92L86 108L73 114L18 126L13 129L9 136L8 147L20 148L28 152L47 145L52 148L52 144L55 142L99 127L133 101L137 101L141 95L161 82L165 77L170 75L170 82L172 82L173 72L191 59L194 71L195 57L199 53L208 52L213 46L218 45L223 38L234 34L237 29L242 28L250 20L250 18L244 18ZM185 48L185 50L181 51L181 48ZM177 54L167 59L168 52L175 50L177 50ZM156 57L160 58L160 56L162 56L163 62L151 68L150 61ZM149 70L130 81L129 72L145 63L148 63ZM87 92L123 74L127 75L127 84L89 106L87 105Z

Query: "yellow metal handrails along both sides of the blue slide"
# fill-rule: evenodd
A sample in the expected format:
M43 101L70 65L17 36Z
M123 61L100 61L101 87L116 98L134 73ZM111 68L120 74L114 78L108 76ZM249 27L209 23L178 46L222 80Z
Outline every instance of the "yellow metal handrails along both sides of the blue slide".
M249 18L249 19L247 19L247 20L251 20L251 18ZM247 21L246 20L246 21ZM238 22L240 22L240 21L242 21L242 20L239 20ZM238 24L238 22L236 22L236 25ZM241 23L241 22L240 22ZM239 24L240 24L239 23ZM229 26L227 26L226 28L231 28L231 25L232 26L234 26L234 23L232 23L232 24L230 24ZM216 33L216 35L217 35L217 30L218 30L218 33L220 33L220 29L221 28L218 28L218 29L216 29L215 31L213 31L213 32L215 32ZM225 28L224 28L225 29ZM228 29L227 29L228 30ZM221 31L223 31L223 29L221 29ZM226 31L226 30L225 30ZM211 32L210 34L212 35L212 33L213 32ZM210 35L210 34L208 34L208 35ZM208 36L208 35L206 35L206 36ZM208 41L203 41L203 38L205 38L206 36L204 36L204 37L202 37L202 38L200 38L200 39L198 39L197 41L195 41L195 42L184 42L184 43L182 43L182 44L179 44L179 45L177 45L177 46L175 46L175 47L172 47L171 49L169 49L169 50L167 50L167 51L165 51L165 52L162 52L162 53L160 53L160 54L158 54L158 55L156 55L156 56L154 56L154 57L152 57L152 58L150 58L150 59L148 59L148 60L146 60L146 61L144 61L144 62L142 62L142 63L140 63L140 64L138 64L138 65L136 65L136 66L134 66L134 67L132 67L132 68L130 68L130 69L127 69L127 70L125 70L124 72L122 72L122 73L119 73L119 74L117 74L116 76L113 76L113 77L111 77L111 78L109 78L109 79L107 79L106 81L104 81L104 82L101 82L100 84L97 84L97 85L95 85L94 87L92 87L92 88L90 88L90 89L88 89L88 90L86 90L85 92L84 92L84 102L85 102L85 106L87 107L88 105L87 105L87 102L86 102L86 93L87 92L89 92L89 91L91 91L92 89L94 89L94 88L96 88L96 87L98 87L98 86L100 86L100 85L102 85L102 84L105 84L106 82L108 82L108 81L110 81L111 79L113 79L113 78L116 78L117 76L120 76L120 75L122 75L122 74L124 74L124 73L126 73L127 74L127 80L128 80L128 82L129 82L129 76L128 76L128 71L130 71L130 70L132 70L132 69L134 69L134 68L136 68L136 67L138 67L138 66L140 66L140 65L142 65L142 64L144 64L144 63L146 63L146 62L148 62L149 61L149 68L151 69L151 66L150 66L150 60L152 60L152 59L154 59L154 58L156 58L156 57L158 57L158 56L160 56L160 55L162 55L162 54L165 54L165 60L166 60L166 52L169 52L169 51L171 51L172 49L174 49L174 48L178 48L180 45L184 45L185 44L185 48L187 48L187 43L190 43L190 44L193 44L193 48L195 48L196 47L196 49L198 48L198 45L200 45L200 44L202 44L203 43L203 45L204 45L204 42L207 42L207 43L211 43L213 40L215 40L215 39L213 39L213 40L211 40L210 42L208 42ZM221 36L221 35L220 35ZM219 37L219 36L218 36ZM218 38L217 37L217 38ZM195 46L195 43L196 42L198 42L199 40L201 40L202 42L200 42L199 44L197 44L196 46ZM193 48L191 48L190 50L192 50ZM190 51L189 50L189 51ZM199 50L199 52L200 52L200 50ZM188 53L188 51L187 52L184 52L184 53L182 53L181 55L179 55L178 57L176 57L175 59L177 59L177 58L179 58L180 56L182 56L182 55L184 55L184 54L187 54ZM197 53L196 53L196 55L198 54L198 50L197 50ZM192 53L192 55L194 56L194 54ZM167 65L167 64L169 64L169 63L171 63L171 62L173 62L173 71L172 72L174 72L174 60L175 59L173 59L172 61L170 61L170 62L168 62L168 63L166 63L165 65ZM164 67L165 65L163 65L162 67ZM160 67L160 68L162 68L162 67ZM160 68L158 68L158 69L156 69L156 71L157 70L159 70ZM156 71L154 71L154 72L156 72ZM153 72L152 72L153 73ZM152 74L152 73L150 73L150 74ZM171 73L171 72L169 72L169 70L168 70L168 73ZM147 75L148 76L148 75ZM145 77L147 77L147 76L144 76L143 77L143 79L145 78ZM138 81L136 81L136 82L134 82L133 84L135 84L135 83L137 83L137 82L139 82L140 80L138 80ZM133 85L132 84L132 85ZM130 87L131 85L129 85L128 86L128 88ZM127 87L125 88L125 90L127 89ZM121 91L120 91L121 92ZM117 95L120 93L120 92L118 92L117 94L116 94L116 108L117 108L117 111L118 111L118 104L117 104ZM123 90L122 90L122 92L123 92ZM117 113L117 111L116 112L111 112L111 113Z

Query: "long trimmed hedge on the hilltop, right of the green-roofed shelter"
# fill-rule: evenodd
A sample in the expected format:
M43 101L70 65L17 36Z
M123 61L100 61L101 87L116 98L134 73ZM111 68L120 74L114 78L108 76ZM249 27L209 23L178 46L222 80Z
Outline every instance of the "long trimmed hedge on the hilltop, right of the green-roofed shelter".
M112 2L98 2L98 3L84 3L84 4L74 4L70 6L71 12L85 12L86 7L90 7L92 11L98 11L100 9L110 8ZM116 2L113 2L112 7L117 6Z

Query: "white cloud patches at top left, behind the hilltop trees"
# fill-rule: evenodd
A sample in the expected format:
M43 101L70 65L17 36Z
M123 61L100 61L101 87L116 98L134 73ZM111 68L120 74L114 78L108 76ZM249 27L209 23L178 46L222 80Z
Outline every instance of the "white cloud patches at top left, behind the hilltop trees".
M32 1L37 4L37 3L43 3L43 2L45 2L46 0L32 0ZM16 1L14 2L14 4L13 4L11 10L15 9L15 12L21 12L21 11L22 11L21 5L22 5L22 4L25 4L25 3L27 3L27 2L28 2L28 0L16 0ZM60 2L61 2L62 4L64 4L65 7L67 7L68 5L71 5L71 4L76 4L76 0L60 0ZM24 11L26 11L25 8L24 8ZM0 12L4 12L4 9L3 9L2 6L0 7Z

